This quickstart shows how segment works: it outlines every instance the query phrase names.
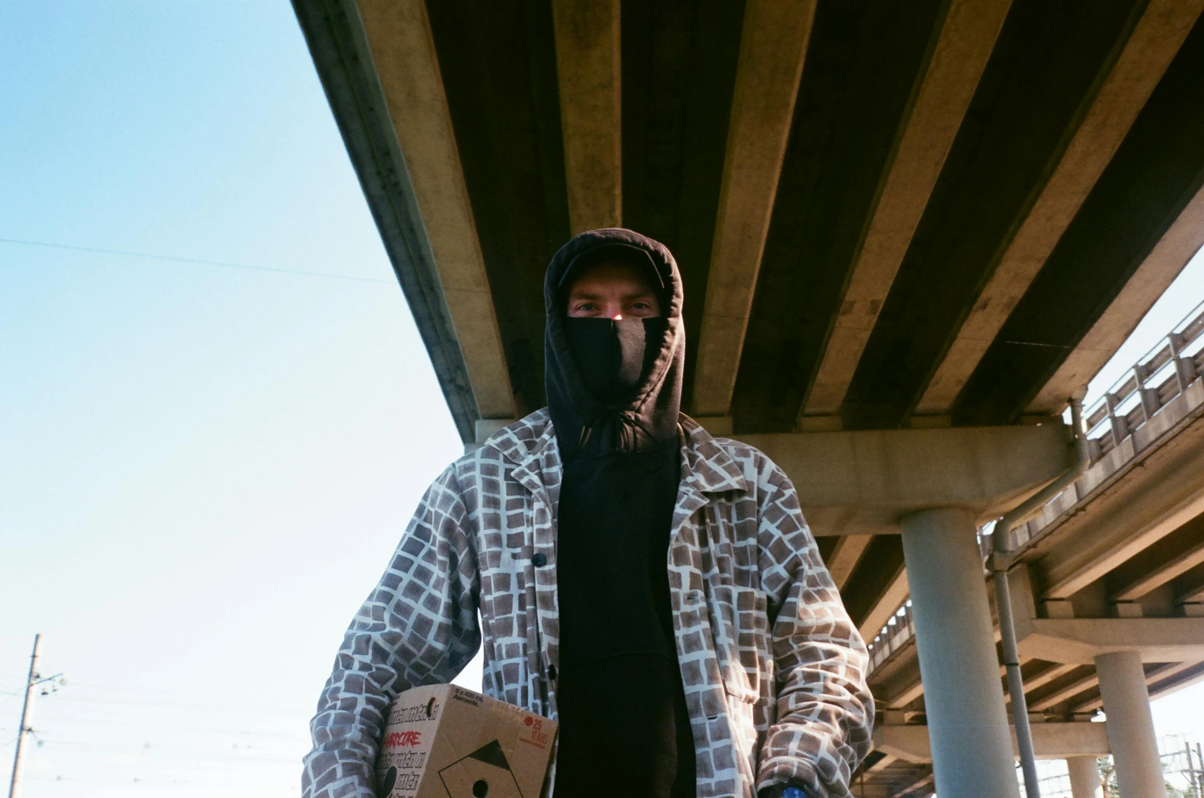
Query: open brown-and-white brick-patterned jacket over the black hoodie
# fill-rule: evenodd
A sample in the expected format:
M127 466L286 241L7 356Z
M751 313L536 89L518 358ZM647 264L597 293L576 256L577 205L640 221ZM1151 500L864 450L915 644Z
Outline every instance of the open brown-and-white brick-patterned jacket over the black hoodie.
M750 798L790 780L844 798L869 749L866 646L781 469L684 415L681 430L668 569L698 798ZM538 410L431 485L321 693L305 798L373 796L391 699L450 681L482 640L484 692L556 716L560 474Z

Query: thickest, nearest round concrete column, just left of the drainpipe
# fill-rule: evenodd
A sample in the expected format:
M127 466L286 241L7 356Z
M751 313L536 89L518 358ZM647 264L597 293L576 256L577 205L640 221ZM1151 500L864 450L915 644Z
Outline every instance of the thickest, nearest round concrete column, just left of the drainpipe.
M899 520L937 793L1017 798L982 558L968 510Z

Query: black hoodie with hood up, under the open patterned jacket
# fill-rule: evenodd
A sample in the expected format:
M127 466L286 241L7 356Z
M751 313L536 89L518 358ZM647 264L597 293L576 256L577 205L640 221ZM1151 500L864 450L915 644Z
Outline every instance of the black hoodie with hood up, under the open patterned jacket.
M656 319L566 318L586 266L636 264L661 289ZM548 407L565 463L556 798L695 796L694 738L669 603L680 474L681 279L662 244L594 230L544 282Z

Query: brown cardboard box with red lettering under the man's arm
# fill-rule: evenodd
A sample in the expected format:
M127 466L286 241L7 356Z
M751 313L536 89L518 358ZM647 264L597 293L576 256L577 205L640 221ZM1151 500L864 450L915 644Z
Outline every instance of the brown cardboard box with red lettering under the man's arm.
M380 798L539 798L556 721L455 685L397 696L380 738Z

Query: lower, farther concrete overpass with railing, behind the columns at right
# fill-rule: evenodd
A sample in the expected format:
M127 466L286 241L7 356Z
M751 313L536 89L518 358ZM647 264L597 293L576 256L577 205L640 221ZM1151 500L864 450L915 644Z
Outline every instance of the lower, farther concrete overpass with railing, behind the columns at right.
M1121 681L1144 682L1141 701L1204 679L1202 374L1204 306L1087 413L1091 467L1013 532L1013 614L1038 756L1111 750L1090 723L1105 708L1100 657L1106 675L1109 655L1128 652ZM884 713L867 767L883 781L903 775L890 767L901 761L913 766L905 778L928 775L914 773L931 761L927 749L898 743L913 740L911 725L925 717L915 637L904 602L870 639ZM1090 752L1079 747L1085 739Z

